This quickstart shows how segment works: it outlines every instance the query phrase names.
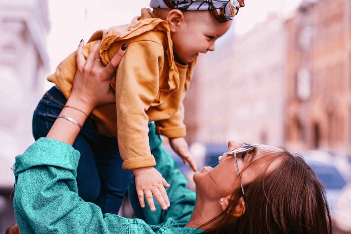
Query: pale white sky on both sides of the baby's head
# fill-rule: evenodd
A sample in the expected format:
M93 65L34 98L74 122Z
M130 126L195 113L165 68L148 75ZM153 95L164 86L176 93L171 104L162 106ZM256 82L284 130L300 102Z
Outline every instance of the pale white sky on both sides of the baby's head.
M237 34L244 34L268 14L287 16L301 0L246 0L235 17ZM81 39L87 41L97 29L129 23L148 7L149 0L50 0L51 31L48 37L50 73L70 53ZM51 84L47 83L46 88Z

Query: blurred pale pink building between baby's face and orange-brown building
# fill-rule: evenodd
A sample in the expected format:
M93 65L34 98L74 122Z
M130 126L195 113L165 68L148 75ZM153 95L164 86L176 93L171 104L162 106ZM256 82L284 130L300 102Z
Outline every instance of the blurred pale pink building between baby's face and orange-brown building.
M199 58L185 100L188 141L283 143L286 40L270 16Z

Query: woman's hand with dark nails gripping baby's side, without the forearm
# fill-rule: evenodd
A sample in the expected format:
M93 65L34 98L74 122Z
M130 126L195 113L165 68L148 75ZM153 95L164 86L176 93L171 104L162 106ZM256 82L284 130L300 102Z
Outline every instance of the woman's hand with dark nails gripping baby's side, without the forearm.
M110 79L121 61L126 45L116 53L105 67L99 56L97 42L88 58L83 56L84 41L79 43L76 52L77 71L70 99L74 99L81 109L90 113L95 107L115 102L115 94L110 88Z

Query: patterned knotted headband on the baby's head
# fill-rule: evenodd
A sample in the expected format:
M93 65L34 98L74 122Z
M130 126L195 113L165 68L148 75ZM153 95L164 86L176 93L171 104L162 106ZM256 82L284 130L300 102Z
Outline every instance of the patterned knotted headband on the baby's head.
M208 10L215 19L222 23L233 20L244 0L151 0L151 8L169 8L186 11Z

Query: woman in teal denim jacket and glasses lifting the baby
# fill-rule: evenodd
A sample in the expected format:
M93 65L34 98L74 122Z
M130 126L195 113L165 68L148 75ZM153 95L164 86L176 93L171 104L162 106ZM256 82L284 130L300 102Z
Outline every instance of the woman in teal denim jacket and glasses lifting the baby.
M108 81L122 55L120 51L103 68L95 62L97 53L85 61L80 45L67 105L90 113L112 102ZM299 157L272 146L231 141L218 166L194 174L195 196L152 123L151 150L156 169L171 185L171 207L141 209L132 184L131 203L143 220L103 215L77 194L79 153L71 145L80 130L75 122L84 123L86 115L73 108L61 115L73 120L58 118L46 138L16 158L14 207L22 233L331 233L323 188Z

